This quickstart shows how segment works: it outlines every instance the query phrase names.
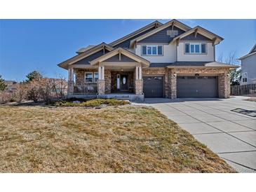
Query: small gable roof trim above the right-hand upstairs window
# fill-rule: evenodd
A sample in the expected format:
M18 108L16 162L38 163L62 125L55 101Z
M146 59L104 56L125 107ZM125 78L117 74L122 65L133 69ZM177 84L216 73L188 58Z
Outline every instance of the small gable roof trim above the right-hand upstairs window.
M203 27L196 26L193 29L190 29L189 31L184 32L183 34L176 36L175 38L173 38L173 40L170 43L175 42L177 39L182 39L185 36L188 36L189 34L192 34L194 32L202 34L203 36L208 37L208 39L214 40L215 45L220 43L220 41L223 40L223 38L221 36L218 36L217 34L214 34L213 32L210 32L207 29L204 29Z

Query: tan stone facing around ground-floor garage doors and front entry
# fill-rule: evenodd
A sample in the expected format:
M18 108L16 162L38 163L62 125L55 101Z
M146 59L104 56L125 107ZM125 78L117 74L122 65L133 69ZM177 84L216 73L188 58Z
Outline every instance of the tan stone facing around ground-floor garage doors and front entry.
M97 72L97 69L76 69L76 85L86 85L84 78L86 72ZM116 75L128 74L128 87L137 95L143 92L143 80L135 80L134 71L111 71L105 69L105 80L97 82L98 94L109 94L116 91ZM142 69L142 76L163 76L163 97L175 99L177 97L177 76L194 74L208 74L218 76L218 92L220 98L228 98L230 95L230 76L227 68L147 68ZM74 92L74 81L68 82L68 92Z

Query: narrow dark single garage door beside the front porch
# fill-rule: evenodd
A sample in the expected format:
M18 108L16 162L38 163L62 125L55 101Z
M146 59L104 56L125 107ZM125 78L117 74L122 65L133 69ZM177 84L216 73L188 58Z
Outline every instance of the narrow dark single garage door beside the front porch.
M143 76L144 97L163 97L163 76Z

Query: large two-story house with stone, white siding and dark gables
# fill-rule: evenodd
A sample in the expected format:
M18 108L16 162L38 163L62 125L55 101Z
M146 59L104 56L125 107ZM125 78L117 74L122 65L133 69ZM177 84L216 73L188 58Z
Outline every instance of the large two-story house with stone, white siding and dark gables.
M215 61L222 40L199 26L155 21L112 43L81 48L58 66L69 71L68 97L227 98L236 66Z

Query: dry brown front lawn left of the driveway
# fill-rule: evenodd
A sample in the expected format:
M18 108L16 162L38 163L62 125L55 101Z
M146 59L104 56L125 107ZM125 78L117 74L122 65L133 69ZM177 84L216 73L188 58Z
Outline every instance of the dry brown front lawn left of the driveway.
M0 107L0 172L234 172L148 107Z

